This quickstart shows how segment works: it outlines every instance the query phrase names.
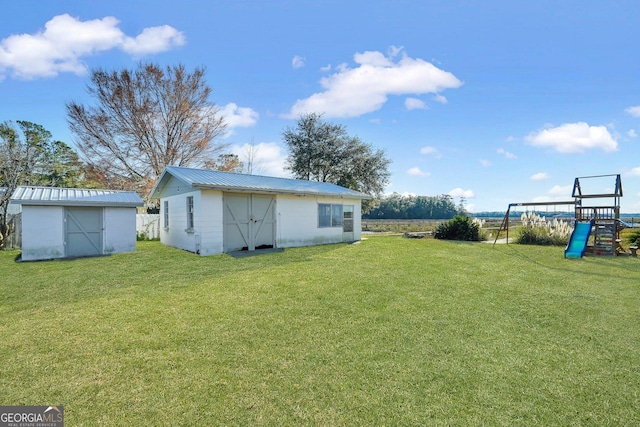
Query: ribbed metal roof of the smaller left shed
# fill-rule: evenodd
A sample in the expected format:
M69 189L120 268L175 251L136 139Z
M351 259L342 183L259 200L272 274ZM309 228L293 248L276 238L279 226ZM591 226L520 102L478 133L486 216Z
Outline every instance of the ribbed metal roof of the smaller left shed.
M84 188L16 188L11 201L22 205L136 207L144 202L134 191L89 190Z

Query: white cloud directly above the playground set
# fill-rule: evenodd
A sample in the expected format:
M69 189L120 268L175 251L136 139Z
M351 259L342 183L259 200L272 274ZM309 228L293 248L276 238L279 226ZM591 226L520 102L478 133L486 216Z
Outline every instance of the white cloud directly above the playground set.
M583 153L595 148L604 151L618 149L618 142L605 126L589 126L585 122L543 129L527 136L527 141L536 147L551 147L559 153Z

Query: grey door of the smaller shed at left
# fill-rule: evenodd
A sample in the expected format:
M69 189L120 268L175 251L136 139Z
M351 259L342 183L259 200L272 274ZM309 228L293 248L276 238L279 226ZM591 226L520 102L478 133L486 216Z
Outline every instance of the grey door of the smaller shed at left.
M65 209L66 255L102 255L102 208Z

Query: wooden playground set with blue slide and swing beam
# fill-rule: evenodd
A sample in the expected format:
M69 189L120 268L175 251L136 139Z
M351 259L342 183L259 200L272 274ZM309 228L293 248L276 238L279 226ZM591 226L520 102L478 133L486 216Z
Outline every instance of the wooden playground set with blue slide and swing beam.
M585 191L593 187L588 184L600 178L615 177L615 186L610 193ZM512 207L572 205L574 227L564 251L565 258L582 258L584 255L636 255L637 246L624 250L620 232L630 225L620 219L622 182L620 175L596 175L578 177L573 184L571 201L510 203L498 230L495 245L503 228L509 242L509 216Z

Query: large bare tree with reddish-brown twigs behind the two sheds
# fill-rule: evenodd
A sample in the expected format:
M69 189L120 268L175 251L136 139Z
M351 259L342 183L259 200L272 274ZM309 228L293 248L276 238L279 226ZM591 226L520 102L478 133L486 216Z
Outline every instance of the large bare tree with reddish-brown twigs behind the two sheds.
M204 167L226 147L214 142L226 124L203 68L96 69L87 90L97 104L68 103L69 126L85 162L112 180L149 189L166 166Z

